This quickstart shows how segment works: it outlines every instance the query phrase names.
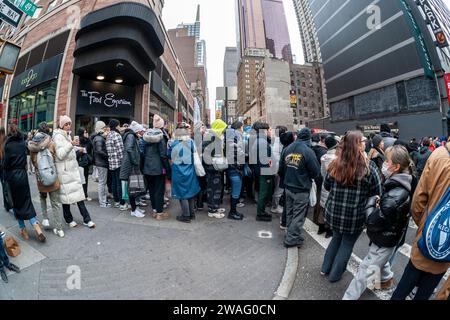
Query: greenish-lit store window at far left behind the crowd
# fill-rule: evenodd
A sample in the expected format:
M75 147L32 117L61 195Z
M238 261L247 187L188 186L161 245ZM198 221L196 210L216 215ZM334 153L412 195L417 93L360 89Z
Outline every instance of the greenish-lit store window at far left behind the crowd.
M9 101L8 120L17 123L22 132L37 129L45 121L53 126L56 81L22 92Z

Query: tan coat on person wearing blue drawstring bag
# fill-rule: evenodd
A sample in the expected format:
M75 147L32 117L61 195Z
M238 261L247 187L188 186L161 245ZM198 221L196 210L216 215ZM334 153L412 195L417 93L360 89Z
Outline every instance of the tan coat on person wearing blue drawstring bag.
M425 165L411 208L412 218L418 226L411 251L411 262L417 269L435 275L447 272L450 263L435 262L425 258L417 242L422 236L427 209L432 210L436 207L448 188L450 188L450 155L447 148L441 147L433 152Z

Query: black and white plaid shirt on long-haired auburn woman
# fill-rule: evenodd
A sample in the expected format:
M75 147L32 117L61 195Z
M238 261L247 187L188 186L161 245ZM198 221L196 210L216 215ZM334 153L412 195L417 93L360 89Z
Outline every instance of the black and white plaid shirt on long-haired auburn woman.
M365 207L370 197L383 192L382 179L373 161L369 161L369 173L355 186L338 184L329 174L325 179L325 189L330 195L325 205L325 219L333 230L340 233L356 234L364 229Z

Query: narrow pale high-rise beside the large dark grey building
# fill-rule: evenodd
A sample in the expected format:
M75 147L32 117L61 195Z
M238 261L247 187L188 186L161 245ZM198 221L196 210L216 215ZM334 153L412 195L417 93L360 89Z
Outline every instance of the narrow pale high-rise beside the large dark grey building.
M305 62L322 62L316 26L308 0L293 0L302 39Z

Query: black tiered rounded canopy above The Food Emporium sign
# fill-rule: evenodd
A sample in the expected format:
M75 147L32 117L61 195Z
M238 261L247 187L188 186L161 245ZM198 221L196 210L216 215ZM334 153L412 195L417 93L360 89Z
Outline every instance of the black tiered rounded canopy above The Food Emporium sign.
M145 84L164 53L165 36L153 10L125 2L86 15L76 35L73 72L95 80L123 79L129 86Z

